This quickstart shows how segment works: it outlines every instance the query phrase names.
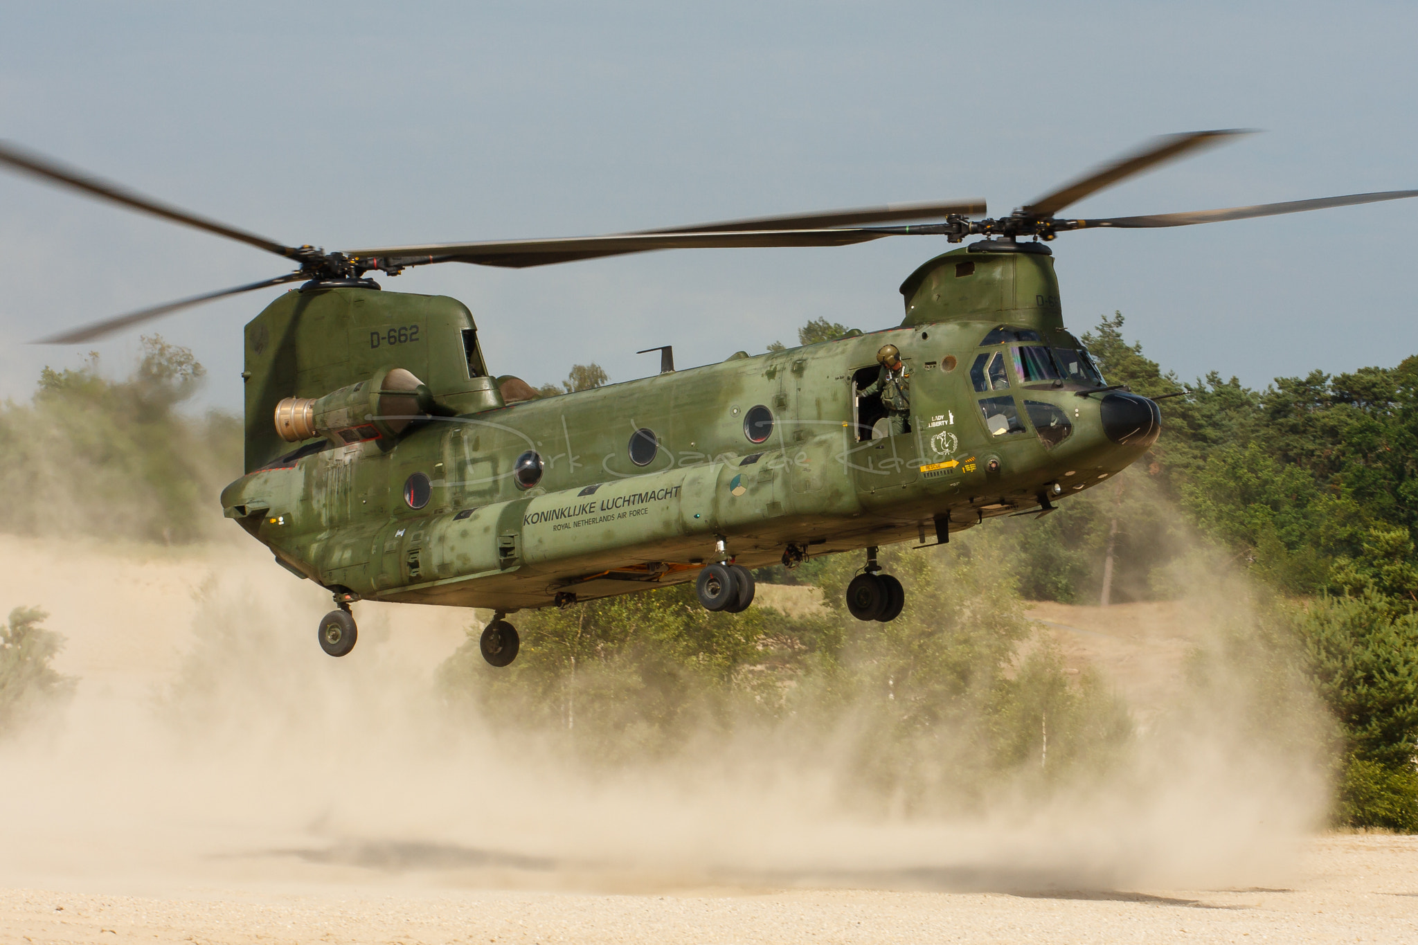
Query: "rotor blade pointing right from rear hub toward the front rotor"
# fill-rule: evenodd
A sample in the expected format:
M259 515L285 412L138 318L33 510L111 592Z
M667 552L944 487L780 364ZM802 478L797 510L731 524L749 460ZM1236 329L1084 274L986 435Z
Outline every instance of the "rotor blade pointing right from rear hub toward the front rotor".
M624 232L607 237L553 237L547 239L495 239L448 242L427 247L349 249L345 255L380 265L415 266L430 262L472 262L481 266L523 269L553 262L618 256L654 249L733 249L744 247L847 247L917 230L871 227L845 230L766 230L725 232ZM919 230L927 230L922 227ZM939 228L936 230L939 232Z

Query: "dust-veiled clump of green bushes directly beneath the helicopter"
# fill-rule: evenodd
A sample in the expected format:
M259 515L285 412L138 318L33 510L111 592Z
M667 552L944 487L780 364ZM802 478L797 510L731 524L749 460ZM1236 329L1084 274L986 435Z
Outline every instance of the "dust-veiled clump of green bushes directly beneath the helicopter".
M526 613L510 667L486 666L469 636L440 681L510 738L537 732L593 766L747 740L828 765L858 803L936 812L995 783L1095 776L1132 738L1126 708L1034 639L998 553L963 548L883 550L906 587L891 623L845 612L861 557L830 555L811 570L825 616L712 615L681 585Z

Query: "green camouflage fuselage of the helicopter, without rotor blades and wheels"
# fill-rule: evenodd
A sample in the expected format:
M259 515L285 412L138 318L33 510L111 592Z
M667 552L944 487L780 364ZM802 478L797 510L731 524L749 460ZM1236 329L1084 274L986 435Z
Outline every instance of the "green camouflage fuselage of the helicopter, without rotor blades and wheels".
M981 347L1000 326L1081 347L1062 326L1052 258L960 249L902 292L895 329L510 405L457 300L289 292L247 326L248 472L223 507L325 587L512 611L693 579L720 537L750 568L788 545L815 555L932 543L1096 485L1150 445L1105 435L1105 394L1078 395L1089 384L1022 377L1020 341ZM858 439L866 404L855 384L875 380L886 343L910 370L910 431ZM971 367L993 351L1004 387L980 391ZM347 445L295 449L277 436L281 398L318 398L393 367L424 381L444 415ZM995 432L980 404L1010 397L1020 421ZM767 432L761 443L746 426L754 407L773 414L771 428L753 428ZM1041 436L1029 419L1039 411L1071 432ZM637 431L658 443L644 466L631 459ZM512 475L527 452L543 465L532 489ZM415 473L428 479L427 502L406 496Z

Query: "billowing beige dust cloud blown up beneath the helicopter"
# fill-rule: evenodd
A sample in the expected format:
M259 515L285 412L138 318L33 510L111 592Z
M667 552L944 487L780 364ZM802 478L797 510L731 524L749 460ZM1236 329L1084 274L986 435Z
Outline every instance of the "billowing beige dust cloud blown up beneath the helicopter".
M360 604L330 659L329 598L252 543L0 537L0 574L79 677L55 725L0 744L10 885L1273 887L1327 799L1313 703L1214 574L1178 605L1176 694L1106 778L929 817L854 805L832 731L686 732L674 761L590 772L441 701L469 612Z

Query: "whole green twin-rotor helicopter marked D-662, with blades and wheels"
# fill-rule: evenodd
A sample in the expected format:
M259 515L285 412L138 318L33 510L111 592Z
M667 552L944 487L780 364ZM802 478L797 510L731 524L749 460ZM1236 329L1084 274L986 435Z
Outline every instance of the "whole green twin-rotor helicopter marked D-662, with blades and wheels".
M893 541L947 543L988 517L1038 511L1105 482L1161 429L1157 404L1099 374L1064 327L1055 234L1180 227L1418 196L1353 194L1256 207L1066 220L1069 204L1239 132L1149 142L1008 217L984 201L898 204L604 237L325 252L285 247L14 146L0 163L89 196L251 244L299 268L67 332L88 341L221 296L301 282L245 326L245 475L221 506L301 578L335 596L326 653L354 646L360 599L495 612L482 653L506 666L522 608L695 581L710 611L753 599L749 568L865 550L847 604L891 621ZM900 221L942 220L929 224ZM892 224L892 225L882 225ZM900 285L899 326L820 344L539 397L489 373L457 299L383 292L369 272L435 262L539 266L649 249L839 247L895 235L984 239ZM1021 238L1029 238L1022 242ZM910 411L891 435L878 350L908 366ZM881 421L881 422L879 422Z

